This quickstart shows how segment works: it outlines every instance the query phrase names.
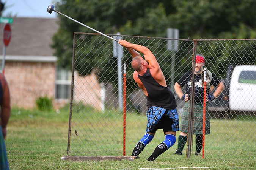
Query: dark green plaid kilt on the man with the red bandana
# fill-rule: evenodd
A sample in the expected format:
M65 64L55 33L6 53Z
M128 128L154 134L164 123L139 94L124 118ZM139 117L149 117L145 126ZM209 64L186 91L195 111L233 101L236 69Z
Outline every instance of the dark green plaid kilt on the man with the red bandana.
M188 133L189 108L190 101L185 102L180 125L180 130L184 133ZM194 103L193 134L203 134L203 103ZM207 104L205 115L205 134L210 134L210 115Z

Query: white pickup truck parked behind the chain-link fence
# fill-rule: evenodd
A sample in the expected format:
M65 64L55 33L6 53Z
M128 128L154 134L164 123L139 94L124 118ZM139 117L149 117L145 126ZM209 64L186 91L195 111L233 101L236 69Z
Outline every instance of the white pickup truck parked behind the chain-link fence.
M256 66L230 66L226 78L225 89L209 110L256 112Z

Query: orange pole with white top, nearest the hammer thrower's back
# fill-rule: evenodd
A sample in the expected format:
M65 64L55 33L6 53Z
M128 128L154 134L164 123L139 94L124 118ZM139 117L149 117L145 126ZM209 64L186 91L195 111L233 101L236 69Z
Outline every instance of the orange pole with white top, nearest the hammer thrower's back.
M126 146L126 63L124 63L124 121L123 121L123 156L125 156Z

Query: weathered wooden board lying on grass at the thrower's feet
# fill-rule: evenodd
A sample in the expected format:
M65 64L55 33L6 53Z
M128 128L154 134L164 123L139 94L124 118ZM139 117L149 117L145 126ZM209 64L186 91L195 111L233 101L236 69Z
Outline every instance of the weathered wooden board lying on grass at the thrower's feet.
M133 161L138 159L138 156L62 156L61 160L64 161L105 161L105 160L127 160Z

